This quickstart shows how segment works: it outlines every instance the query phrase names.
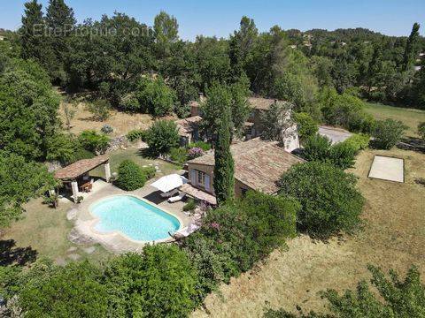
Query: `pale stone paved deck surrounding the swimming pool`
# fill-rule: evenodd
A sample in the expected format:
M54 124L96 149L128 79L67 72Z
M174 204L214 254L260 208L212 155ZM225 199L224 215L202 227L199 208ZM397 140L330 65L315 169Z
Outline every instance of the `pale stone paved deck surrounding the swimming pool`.
M93 231L92 229L97 219L89 212L89 207L99 200L120 194L134 195L139 199L148 201L154 206L165 210L172 216L177 216L179 221L182 223L181 227L187 226L190 221L192 221L192 217L187 216L182 212L182 208L185 203L182 201L168 203L166 199L161 198L158 190L151 186L151 183L154 181L154 179L148 181L146 186L143 186L141 189L135 191L124 191L116 186L112 186L112 184L107 184L103 180L97 180L96 183L99 183L97 186L98 190L90 193L80 204L73 205L75 230L84 239L96 241L113 253L142 252L143 246L146 245L145 242L128 239L119 232L102 234L97 231ZM172 241L172 238L166 239L166 242Z

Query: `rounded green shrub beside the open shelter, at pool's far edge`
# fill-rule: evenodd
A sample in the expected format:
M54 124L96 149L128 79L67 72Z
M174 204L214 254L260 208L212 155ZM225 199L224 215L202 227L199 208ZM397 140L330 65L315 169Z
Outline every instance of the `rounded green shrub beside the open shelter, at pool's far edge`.
M118 168L118 180L116 186L122 190L134 191L144 186L146 176L143 170L131 160L124 160Z

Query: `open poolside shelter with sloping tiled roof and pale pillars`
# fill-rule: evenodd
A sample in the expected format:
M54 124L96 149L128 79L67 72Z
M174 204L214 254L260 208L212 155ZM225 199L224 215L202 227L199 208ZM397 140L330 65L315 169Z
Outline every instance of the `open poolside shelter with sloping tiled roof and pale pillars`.
M111 179L111 166L109 157L99 155L92 159L82 159L72 163L55 172L55 178L62 180L64 183L70 183L73 190L73 201L78 197L78 179L89 173L90 170L96 169L98 166L104 165L104 176L106 182Z

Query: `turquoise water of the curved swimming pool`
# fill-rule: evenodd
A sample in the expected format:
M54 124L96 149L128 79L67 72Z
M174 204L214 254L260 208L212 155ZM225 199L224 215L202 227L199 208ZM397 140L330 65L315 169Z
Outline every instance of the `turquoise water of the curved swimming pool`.
M97 202L91 213L100 221L95 230L121 231L130 239L152 241L169 238L168 231L180 228L174 216L131 195L117 195Z

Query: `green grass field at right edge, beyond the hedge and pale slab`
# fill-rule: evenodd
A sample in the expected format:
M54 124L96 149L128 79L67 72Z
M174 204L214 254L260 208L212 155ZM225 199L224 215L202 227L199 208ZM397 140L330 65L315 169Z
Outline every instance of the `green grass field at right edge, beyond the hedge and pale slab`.
M366 103L366 111L375 119L392 118L402 121L408 126L407 136L418 137L418 125L425 122L425 110L399 108L380 103Z

